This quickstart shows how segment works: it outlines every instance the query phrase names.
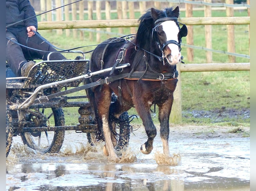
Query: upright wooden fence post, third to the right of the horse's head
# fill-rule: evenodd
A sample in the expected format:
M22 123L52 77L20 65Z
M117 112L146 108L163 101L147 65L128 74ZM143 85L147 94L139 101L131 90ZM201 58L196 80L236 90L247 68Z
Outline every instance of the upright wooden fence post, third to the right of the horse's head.
M234 4L234 0L226 0L227 4ZM226 9L227 17L234 17L234 8L227 7ZM235 46L235 27L234 25L227 25L228 29L228 52L235 53L236 46ZM228 55L229 62L236 62L236 57Z

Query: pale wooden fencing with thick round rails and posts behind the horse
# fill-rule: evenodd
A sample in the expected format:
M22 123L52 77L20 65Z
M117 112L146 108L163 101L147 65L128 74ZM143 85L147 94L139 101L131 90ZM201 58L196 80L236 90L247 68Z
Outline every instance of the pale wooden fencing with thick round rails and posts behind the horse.
M51 1L51 0L46 0L46 1ZM205 0L205 2L210 2L211 0ZM68 2L65 1L65 2ZM94 4L92 1L88 1L88 20L84 20L84 14L86 11L84 11L84 4L82 4L81 1L79 2L79 11L76 7L72 8L72 18L69 19L67 15L70 12L70 9L65 7L65 21L61 21L61 14L57 14L56 11L56 21L52 21L52 15L49 16L47 15L47 21L42 21L38 23L38 29L43 30L43 29L67 29L65 30L66 35L70 35L70 30L73 30L73 34L76 36L77 31L76 29L81 29L81 28L96 28L97 30L100 30L100 28L108 28L108 31L110 31L110 28L119 28L119 32L122 33L122 29L124 27L131 27L131 31L134 30L134 27L138 26L137 19L133 18L134 17L134 2L126 2L126 1L120 1L116 2L116 8L117 8L117 18L112 19L110 18L110 13L112 12L110 9L110 2L105 2L105 17L106 19L101 18L101 13L102 13L102 8L101 4L99 3L100 1L95 2L95 7L96 10L93 10ZM233 0L226 0L226 2L232 3ZM129 9L127 8L127 3L129 4ZM250 0L247 0L247 3L250 4ZM133 5L132 5L133 4ZM61 5L59 5L61 6ZM74 4L72 6L75 6ZM161 3L160 2L154 2L155 7L160 7ZM146 7L146 2L139 2L139 10L141 13L147 9ZM210 14L210 9L209 7L205 6L205 17L192 17L191 11L193 11L193 6L190 4L185 4L185 9L186 9L186 17L185 18L179 18L179 21L181 23L184 23L187 25L189 31L193 31L193 25L205 25L205 31L206 31L206 37L209 41L211 41L211 26L212 25L227 25L228 27L228 39L229 42L228 44L228 52L233 52L234 51L234 36L232 36L234 33L234 29L231 26L234 25L250 25L250 10L248 9L248 17L234 17L232 13L232 8L227 8L227 17L211 17ZM229 10L230 9L230 10ZM48 9L49 10L49 9ZM74 11L75 10L75 11ZM129 18L127 18L127 13L129 10ZM79 14L78 14L79 12ZM93 13L96 12L96 20L93 20ZM122 14L121 14L122 13ZM49 13L52 14L52 13ZM79 17L78 17L79 15ZM118 16L119 15L119 16ZM209 26L209 27L207 27ZM191 27L189 29L189 27ZM191 30L192 29L192 30ZM232 32L233 31L233 32ZM62 30L59 30L59 33L62 33ZM134 33L134 32L131 32ZM80 36L83 34L80 31ZM187 37L187 44L193 45L193 33L189 33L189 36ZM229 38L232 37L232 38ZM100 41L100 33L97 33L97 41ZM249 37L248 37L249 38ZM211 48L211 43L206 44L207 48ZM193 60L194 54L193 54L193 49L187 48L187 52L190 54L190 60ZM189 56L189 55L187 55ZM234 56L230 56L230 62L229 64L215 64L215 63L206 63L206 64L187 64L187 65L182 65L179 64L177 66L179 72L202 72L202 71L248 71L250 70L250 63L235 63L235 59L233 58ZM208 53L207 55L207 62L211 62L211 54ZM178 77L180 78L180 76ZM180 122L181 121L181 81L179 80L177 88L174 92L174 102L173 102L173 110L171 112L171 121L172 122Z

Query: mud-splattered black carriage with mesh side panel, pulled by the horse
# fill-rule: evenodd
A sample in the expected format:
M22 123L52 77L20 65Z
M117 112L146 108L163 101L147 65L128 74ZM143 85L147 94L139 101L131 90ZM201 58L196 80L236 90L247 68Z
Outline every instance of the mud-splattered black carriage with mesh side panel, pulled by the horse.
M76 54L74 60L38 62L27 77L15 77L6 64L6 157L12 138L17 135L28 147L43 153L58 152L66 130L87 133L88 141L92 143L91 133L97 133L97 125L84 90L96 85L85 86L83 80L111 69L86 74L90 60L81 51L71 53ZM70 96L82 90L81 94ZM65 124L65 107L79 108L76 125ZM127 112L123 113L122 119L126 122L119 127L120 135L116 136L119 148L128 145L130 133Z

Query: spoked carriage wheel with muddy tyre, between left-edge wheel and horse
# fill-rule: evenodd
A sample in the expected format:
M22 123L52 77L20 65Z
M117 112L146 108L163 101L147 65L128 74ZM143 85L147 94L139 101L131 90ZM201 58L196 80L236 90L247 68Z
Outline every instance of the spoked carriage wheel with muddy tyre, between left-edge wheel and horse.
M47 124L55 124L55 126L64 126L65 119L64 113L61 107L59 108L42 108L42 113L48 118L44 126ZM36 115L30 114L29 120L35 123L35 127L38 127L40 119ZM40 125L39 125L40 126ZM25 132L21 135L21 139L24 144L30 148L43 152L43 153L55 153L58 152L64 141L65 131L44 131L44 132Z

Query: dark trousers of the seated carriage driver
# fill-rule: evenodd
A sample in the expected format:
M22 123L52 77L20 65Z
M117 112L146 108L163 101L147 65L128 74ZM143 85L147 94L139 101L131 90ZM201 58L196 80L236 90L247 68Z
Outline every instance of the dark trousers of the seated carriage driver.
M27 30L25 28L15 28L15 29L7 29L6 37L16 41L24 46L42 50L32 50L25 47L22 47L9 39L6 38L6 61L10 66L13 73L19 77L21 67L27 63L28 60L32 59L41 59L47 60L47 56L49 52L43 51L56 51L52 46L45 43L40 37L34 35L32 37L27 36ZM63 60L66 59L60 53L53 53L50 55L49 60Z

